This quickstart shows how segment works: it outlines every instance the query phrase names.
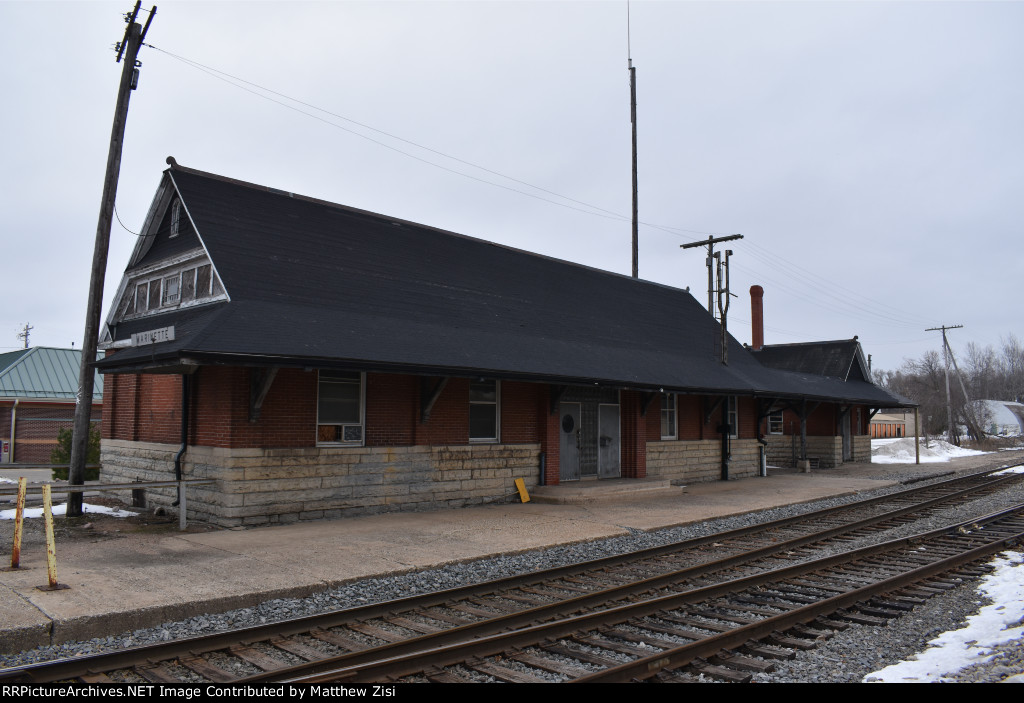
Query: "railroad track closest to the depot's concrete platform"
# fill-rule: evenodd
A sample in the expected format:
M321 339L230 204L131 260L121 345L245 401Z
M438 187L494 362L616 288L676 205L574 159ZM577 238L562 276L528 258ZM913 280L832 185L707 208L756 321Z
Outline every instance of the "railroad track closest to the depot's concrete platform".
M481 584L236 632L0 670L0 680L281 680L467 638L522 629L566 612L609 610L808 559L1021 480L983 472L838 509Z

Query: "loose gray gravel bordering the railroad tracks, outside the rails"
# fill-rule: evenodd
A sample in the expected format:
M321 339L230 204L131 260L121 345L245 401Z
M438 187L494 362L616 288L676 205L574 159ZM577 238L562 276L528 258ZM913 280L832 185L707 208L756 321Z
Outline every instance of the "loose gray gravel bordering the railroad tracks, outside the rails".
M901 476L896 467L893 469L894 471L888 473L886 478L911 480L910 475ZM919 479L920 475L913 475L912 480ZM598 559L763 523L902 488L902 486L891 487L861 493L858 496L845 496L776 508L666 530L652 532L631 530L629 535L612 539L575 543L517 555L499 555L488 559L446 565L437 569L364 579L308 598L268 601L253 608L203 615L134 632L98 638L88 642L41 647L18 654L0 656L0 667L97 654L126 647L260 625L275 620L452 588L472 582L501 578L513 573ZM1024 485L1017 484L984 498L944 510L925 520L865 537L856 543L847 543L843 548L845 551L853 546L924 532L1021 502L1024 502ZM962 585L954 590L930 599L925 605L891 622L886 627L851 626L848 630L824 641L817 649L800 653L796 660L779 662L775 671L758 674L755 676L755 680L763 683L859 682L871 671L910 657L915 652L923 650L926 643L939 633L962 626L965 619L980 607L981 600L973 584ZM1024 654L1022 654L1020 643L1016 643L1005 648L1005 651L1000 650L999 656L992 663L961 672L955 679L965 682L1002 680L1009 675L1021 673L1024 670L1022 666L1024 666Z

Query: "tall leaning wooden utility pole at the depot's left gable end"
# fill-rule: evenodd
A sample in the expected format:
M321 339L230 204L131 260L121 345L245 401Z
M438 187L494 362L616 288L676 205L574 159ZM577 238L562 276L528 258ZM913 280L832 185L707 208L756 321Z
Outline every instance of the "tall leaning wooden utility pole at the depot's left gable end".
M118 45L117 61L124 56L124 68L121 70L121 83L118 87L118 101L114 111L114 127L111 129L111 146L106 153L106 175L103 178L103 193L99 205L99 221L96 224L96 244L92 252L92 274L89 279L89 300L85 313L85 335L82 342L82 365L78 377L78 394L75 398L75 426L71 441L71 467L68 472L68 482L81 486L85 483L85 458L89 443L90 415L92 414L92 392L96 360L96 346L99 338L99 313L103 304L103 278L106 276L106 254L111 241L111 219L114 216L114 202L118 194L118 177L121 173L121 149L125 136L125 123L128 120L128 101L131 91L138 85L138 49L150 29L150 23L157 14L154 5L150 10L150 18L145 27L139 26L135 18L141 6L141 0L135 3L135 9L125 15L128 27L125 36ZM68 517L82 515L82 493L72 492L68 495Z

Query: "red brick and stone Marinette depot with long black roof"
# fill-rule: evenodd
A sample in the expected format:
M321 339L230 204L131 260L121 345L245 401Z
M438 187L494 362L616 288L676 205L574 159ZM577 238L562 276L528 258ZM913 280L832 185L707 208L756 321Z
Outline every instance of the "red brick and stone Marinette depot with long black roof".
M869 456L872 411L908 404L855 364L777 367L731 337L723 363L686 291L168 163L103 332L102 465L214 479L189 517L736 478L773 442L834 466Z

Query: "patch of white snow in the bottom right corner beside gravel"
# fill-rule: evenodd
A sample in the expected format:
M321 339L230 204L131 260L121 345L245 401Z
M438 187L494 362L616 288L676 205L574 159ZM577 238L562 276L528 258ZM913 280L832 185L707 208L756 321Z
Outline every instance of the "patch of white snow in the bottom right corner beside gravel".
M992 601L967 626L943 632L910 661L887 666L864 676L864 683L941 683L946 676L992 658L992 648L1024 636L1024 553L1004 552L992 565L995 570L978 585L982 597Z

